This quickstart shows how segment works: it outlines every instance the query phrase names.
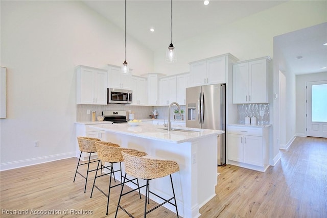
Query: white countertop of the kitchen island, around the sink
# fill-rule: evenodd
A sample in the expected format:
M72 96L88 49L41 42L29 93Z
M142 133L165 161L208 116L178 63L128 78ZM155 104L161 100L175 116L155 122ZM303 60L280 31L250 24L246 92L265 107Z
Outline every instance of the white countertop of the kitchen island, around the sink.
M222 130L208 130L196 128L175 128L181 130L195 130L197 132L181 132L181 131L168 131L164 130L162 126L141 123L139 126L129 126L128 124L103 124L90 126L90 128L104 130L112 133L120 133L123 135L136 136L140 138L148 138L158 141L165 141L170 143L182 143L205 138L207 136L222 134Z

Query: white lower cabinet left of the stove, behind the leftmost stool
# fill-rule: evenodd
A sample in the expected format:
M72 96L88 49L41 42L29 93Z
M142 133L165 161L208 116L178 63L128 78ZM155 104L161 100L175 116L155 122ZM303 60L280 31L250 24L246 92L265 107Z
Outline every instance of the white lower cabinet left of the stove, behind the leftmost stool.
M97 124L76 124L76 157L80 157L80 149L77 142L78 136L84 136L84 137L91 137L91 138L99 138L101 141L106 141L106 131L99 131L96 129L92 129L89 126L94 126ZM99 124L102 125L102 124ZM81 160L87 161L89 157L89 153L82 153ZM98 153L92 153L91 159L97 159Z

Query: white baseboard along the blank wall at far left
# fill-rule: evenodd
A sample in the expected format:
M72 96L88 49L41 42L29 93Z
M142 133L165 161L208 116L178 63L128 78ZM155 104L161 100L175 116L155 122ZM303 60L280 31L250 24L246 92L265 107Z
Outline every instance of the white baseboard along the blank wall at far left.
M45 157L31 158L31 159L27 159L27 160L13 161L13 162L9 162L9 163L2 163L2 164L0 164L0 171L7 171L8 169L14 169L14 168L19 168L19 167L24 167L24 166L31 166L31 165L51 162L51 161L55 161L55 160L62 160L62 159L71 158L71 157L75 157L75 156L76 156L76 152L69 152L69 153L64 153L64 154L57 154L57 155L51 155L51 156L45 156Z

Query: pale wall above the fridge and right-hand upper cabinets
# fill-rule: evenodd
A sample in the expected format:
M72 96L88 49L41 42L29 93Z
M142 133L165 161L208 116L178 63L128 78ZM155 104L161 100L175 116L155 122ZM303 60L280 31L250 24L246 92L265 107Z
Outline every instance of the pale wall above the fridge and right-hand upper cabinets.
M326 1L289 1L266 11L174 42L177 63L165 62L166 47L155 51L154 70L167 75L190 70L189 62L230 53L240 61L270 56L273 37L326 21ZM191 24L189 24L191 25Z

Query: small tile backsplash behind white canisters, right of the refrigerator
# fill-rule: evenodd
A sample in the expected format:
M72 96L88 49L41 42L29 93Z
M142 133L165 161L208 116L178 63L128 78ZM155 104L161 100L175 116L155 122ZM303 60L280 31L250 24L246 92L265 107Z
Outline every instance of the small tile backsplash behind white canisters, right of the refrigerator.
M239 104L238 123L244 124L246 116L256 117L257 125L267 125L270 123L269 104Z

